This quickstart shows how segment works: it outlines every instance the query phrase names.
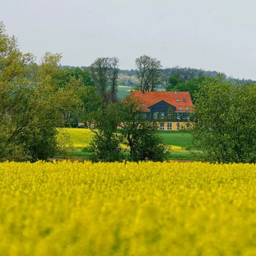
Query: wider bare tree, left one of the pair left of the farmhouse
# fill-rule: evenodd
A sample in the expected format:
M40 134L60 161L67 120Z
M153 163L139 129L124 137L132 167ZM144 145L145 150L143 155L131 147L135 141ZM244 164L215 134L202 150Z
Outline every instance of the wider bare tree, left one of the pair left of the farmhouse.
M109 58L97 58L93 64L90 65L90 70L96 91L105 99L105 102L108 102Z

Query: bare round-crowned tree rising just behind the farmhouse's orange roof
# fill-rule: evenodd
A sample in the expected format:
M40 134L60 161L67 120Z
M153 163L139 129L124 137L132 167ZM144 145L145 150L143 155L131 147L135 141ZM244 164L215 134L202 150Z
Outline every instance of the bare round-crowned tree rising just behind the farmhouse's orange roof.
M135 59L137 77L140 81L140 90L153 91L157 84L160 84L161 62L148 55L142 55Z

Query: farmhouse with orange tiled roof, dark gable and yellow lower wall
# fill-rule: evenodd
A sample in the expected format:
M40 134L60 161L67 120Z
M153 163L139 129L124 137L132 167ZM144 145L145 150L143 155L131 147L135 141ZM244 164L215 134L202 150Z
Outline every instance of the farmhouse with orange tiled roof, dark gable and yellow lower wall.
M193 103L189 92L148 92L134 90L130 96L140 102L145 119L155 120L158 129L189 129Z

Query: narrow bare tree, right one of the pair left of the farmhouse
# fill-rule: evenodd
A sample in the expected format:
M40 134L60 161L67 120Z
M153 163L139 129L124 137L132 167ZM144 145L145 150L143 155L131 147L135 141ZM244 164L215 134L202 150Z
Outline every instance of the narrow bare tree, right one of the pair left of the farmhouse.
M111 81L111 102L117 102L116 87L119 76L119 58L109 58L108 77Z

